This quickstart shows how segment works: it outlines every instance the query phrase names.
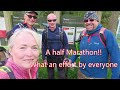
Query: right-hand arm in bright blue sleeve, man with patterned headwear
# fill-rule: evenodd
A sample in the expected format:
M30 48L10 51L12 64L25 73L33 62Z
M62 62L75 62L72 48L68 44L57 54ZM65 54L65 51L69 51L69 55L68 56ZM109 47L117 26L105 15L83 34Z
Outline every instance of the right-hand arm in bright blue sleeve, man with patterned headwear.
M111 67L112 69L112 79L118 79L119 78L119 67L120 67L120 51L119 47L116 41L115 36L112 32L107 30L106 34L106 47L110 54L110 63L117 63L117 67Z

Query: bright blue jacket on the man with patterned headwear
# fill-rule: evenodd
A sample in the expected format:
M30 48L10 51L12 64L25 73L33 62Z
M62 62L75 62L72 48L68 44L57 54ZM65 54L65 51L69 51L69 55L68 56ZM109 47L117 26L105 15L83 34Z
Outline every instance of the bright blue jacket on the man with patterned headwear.
M88 34L99 33L99 30L102 28L102 25L99 24L95 30L87 31ZM80 42L80 51L90 51L90 53L86 52L80 56L80 63L85 63L86 67L80 67L80 71L88 77L94 78L107 78L107 63L110 54L110 63L118 64L117 67L112 66L112 77L111 78L119 78L119 67L120 67L120 54L119 48L114 37L113 33L106 29L104 32L106 37L106 47L100 41L99 36L84 36ZM101 50L101 54L93 54L93 51ZM108 54L109 53L109 54ZM72 55L70 59L74 62L77 59L77 55ZM93 64L99 64L94 67L91 66ZM103 64L106 66L103 66Z

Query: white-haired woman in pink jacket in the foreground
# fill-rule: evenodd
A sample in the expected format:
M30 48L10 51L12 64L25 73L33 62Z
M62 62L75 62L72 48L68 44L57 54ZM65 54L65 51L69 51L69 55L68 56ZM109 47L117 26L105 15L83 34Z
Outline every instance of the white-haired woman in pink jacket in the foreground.
M40 37L28 28L19 28L8 42L9 58L0 68L0 79L36 79L40 54Z

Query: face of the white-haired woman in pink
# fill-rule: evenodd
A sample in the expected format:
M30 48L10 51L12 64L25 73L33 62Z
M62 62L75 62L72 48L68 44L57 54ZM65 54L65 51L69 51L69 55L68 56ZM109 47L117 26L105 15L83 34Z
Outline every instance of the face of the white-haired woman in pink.
M16 37L10 54L18 66L29 69L38 60L39 47L31 34L20 34Z

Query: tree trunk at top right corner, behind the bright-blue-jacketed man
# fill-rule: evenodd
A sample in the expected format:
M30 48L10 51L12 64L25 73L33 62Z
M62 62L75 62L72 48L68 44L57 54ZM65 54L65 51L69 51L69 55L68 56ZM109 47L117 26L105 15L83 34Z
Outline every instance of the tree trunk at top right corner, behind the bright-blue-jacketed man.
M111 11L111 16L109 18L109 29L115 34L117 31L118 17L120 11Z

